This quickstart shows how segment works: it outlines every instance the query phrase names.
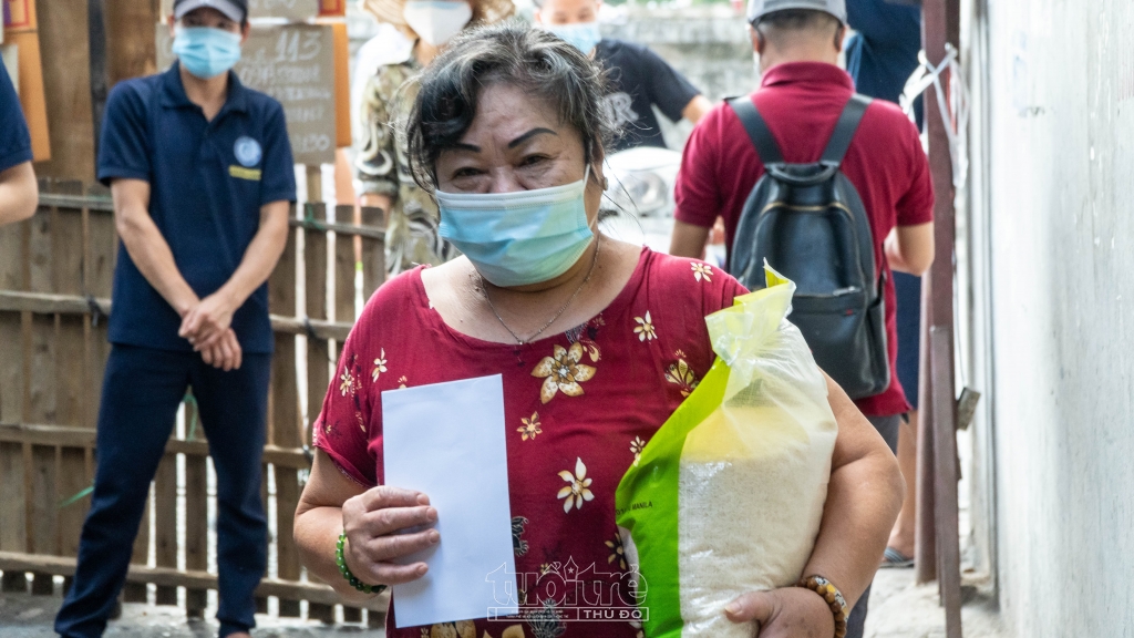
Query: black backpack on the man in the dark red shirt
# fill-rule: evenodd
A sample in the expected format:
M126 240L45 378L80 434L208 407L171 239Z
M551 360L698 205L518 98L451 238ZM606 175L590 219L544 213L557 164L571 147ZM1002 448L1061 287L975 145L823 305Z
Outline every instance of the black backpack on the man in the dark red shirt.
M741 215L729 272L748 289L763 288L767 259L795 282L789 319L852 398L890 386L886 271L874 263L862 198L840 170L870 102L850 98L818 162L787 163L752 99L728 100L764 163Z

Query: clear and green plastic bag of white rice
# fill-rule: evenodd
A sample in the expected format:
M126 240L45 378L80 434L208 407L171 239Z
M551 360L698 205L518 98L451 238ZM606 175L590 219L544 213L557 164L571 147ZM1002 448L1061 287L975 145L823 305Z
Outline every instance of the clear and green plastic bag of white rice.
M838 426L787 321L795 284L709 316L718 359L618 485L619 532L649 638L751 638L725 606L794 585L819 534Z

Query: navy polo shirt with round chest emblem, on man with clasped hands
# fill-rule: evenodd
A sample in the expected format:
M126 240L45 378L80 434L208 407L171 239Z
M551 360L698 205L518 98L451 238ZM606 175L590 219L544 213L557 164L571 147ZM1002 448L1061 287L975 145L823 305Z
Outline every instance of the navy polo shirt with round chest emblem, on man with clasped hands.
M185 94L178 65L119 83L107 100L99 179L150 183L150 217L181 276L202 299L240 265L266 203L295 201L295 168L284 108L228 75L228 98L208 121ZM110 342L192 351L181 318L142 276L125 245L115 268ZM268 285L232 316L248 353L272 352Z

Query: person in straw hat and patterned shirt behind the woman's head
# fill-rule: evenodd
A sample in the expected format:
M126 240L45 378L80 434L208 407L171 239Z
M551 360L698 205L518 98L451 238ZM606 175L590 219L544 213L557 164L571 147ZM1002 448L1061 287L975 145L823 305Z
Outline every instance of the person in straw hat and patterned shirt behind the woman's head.
M441 263L457 253L437 234L437 204L414 183L405 131L416 78L462 30L507 18L511 0L362 0L381 25L358 52L355 178L363 205L387 212L387 268Z

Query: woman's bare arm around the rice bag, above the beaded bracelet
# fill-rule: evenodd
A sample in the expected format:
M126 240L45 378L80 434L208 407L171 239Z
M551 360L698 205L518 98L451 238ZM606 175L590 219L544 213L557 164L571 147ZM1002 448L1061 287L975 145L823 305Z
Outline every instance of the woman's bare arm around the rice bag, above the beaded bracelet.
M823 522L803 573L833 582L850 606L873 580L902 510L902 473L887 454L866 456L831 473Z

